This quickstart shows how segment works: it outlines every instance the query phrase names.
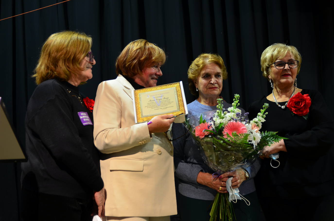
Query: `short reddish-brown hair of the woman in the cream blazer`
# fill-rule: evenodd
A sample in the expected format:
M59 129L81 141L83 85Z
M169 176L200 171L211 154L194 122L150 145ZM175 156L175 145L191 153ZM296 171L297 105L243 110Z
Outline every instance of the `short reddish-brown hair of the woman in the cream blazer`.
M116 74L133 77L153 63L164 64L165 52L145 39L130 42L116 59Z

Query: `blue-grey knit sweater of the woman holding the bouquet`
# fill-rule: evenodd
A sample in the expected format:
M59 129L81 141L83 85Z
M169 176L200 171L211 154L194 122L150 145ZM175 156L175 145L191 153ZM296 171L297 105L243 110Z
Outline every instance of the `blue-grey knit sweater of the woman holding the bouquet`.
M232 105L223 101L224 110ZM207 106L199 103L197 100L189 103L188 116L189 123L198 125L199 117L202 114L204 119L209 119L217 110L216 106ZM241 109L241 108L240 108ZM245 111L241 109L242 113ZM179 137L185 134L187 129L182 124L173 124L173 137ZM174 146L174 164L176 176L179 178L179 192L190 198L201 200L213 200L217 191L207 186L197 183L197 175L199 172L214 173L202 159L202 151L195 144L195 141L189 133L185 136L173 141ZM246 168L250 178L242 182L239 187L241 195L246 195L255 191L254 176L260 168L260 164L256 161L252 166Z

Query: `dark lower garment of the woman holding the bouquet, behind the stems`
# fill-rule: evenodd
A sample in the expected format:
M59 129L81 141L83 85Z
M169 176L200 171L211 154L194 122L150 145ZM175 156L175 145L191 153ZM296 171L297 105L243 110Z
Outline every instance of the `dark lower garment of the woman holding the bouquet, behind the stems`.
M263 221L264 215L261 211L257 193L244 195L251 205L247 206L243 200L232 203L237 221ZM212 200L198 200L180 194L179 213L181 221L208 221Z

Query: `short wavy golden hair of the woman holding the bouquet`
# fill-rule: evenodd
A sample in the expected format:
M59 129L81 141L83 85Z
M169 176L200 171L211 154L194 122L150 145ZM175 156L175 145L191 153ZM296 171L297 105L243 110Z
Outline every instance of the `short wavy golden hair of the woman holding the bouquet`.
M200 54L193 62L191 62L189 69L188 69L189 89L193 95L196 95L196 96L199 95L198 91L196 91L196 86L193 80L197 79L199 73L201 72L202 68L205 65L211 64L211 63L217 64L221 70L222 79L223 80L227 79L226 67L225 67L223 59L220 57L219 54L208 54L208 53Z

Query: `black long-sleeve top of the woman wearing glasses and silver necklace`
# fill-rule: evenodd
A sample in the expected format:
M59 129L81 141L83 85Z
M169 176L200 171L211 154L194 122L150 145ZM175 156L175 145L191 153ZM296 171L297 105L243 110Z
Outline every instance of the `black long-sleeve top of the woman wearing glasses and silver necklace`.
M288 138L284 140L287 152L279 152L278 168L270 166L270 159L262 161L255 177L261 197L294 199L334 193L333 118L318 91L303 89L301 93L311 98L307 120L266 97L248 108L249 119L253 119L263 104L269 103L261 131L278 131L278 135ZM275 162L273 165L276 166Z

